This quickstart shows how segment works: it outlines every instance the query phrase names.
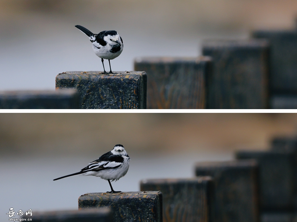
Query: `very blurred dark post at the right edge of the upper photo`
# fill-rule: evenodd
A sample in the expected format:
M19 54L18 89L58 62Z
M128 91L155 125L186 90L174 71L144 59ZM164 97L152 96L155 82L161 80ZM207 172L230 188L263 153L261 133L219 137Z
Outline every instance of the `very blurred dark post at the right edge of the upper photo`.
M297 108L297 30L257 30L254 38L270 42L271 108Z

